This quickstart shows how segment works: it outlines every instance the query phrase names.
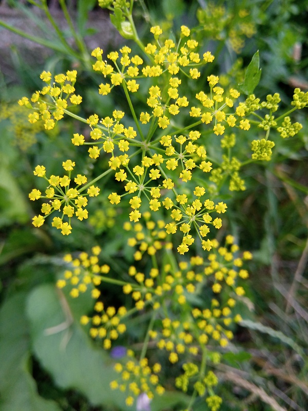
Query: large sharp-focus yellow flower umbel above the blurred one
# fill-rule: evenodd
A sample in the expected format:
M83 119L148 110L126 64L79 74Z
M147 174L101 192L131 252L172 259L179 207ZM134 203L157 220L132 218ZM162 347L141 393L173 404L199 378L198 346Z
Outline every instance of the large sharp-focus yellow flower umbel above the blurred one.
M245 117L254 114L259 119L255 123L268 133L271 127L277 127L272 113L277 110L280 98L278 94L269 95L265 102L260 103L259 99L251 95L245 102L236 104L239 92L234 88L225 90L219 85L219 77L210 74L207 77L208 90L200 90L195 95L195 101L189 101L185 96L187 78L191 81L198 80L202 65L212 62L214 56L208 51L200 54L199 43L186 26L181 27L178 44L171 39L163 40L159 26L152 27L151 32L155 42L148 43L144 49L149 65L144 63L140 55L132 55L131 49L127 46L123 46L119 52L111 51L107 55L109 62L103 60L102 49L96 48L92 52L92 56L97 60L93 64L93 69L109 79L100 85L99 94L107 95L113 87L122 86L136 129L126 126L123 111L114 109L112 117L100 119L97 114L93 114L86 119L90 127L90 137L94 141L87 142L85 137L78 133L73 134L71 141L76 146L88 145L88 154L93 160L99 158L102 152L107 153L108 170L100 178L112 172L115 180L123 184L124 192L118 194L114 191L108 195L108 199L115 205L127 199L131 209L131 222L138 222L141 218L140 210L146 199L150 211L167 211L167 234L175 234L178 229L183 233L181 244L177 248L180 254L186 253L195 241L194 235L190 232L191 228L197 231L203 249L210 250L211 241L205 237L211 226L219 229L222 225L220 216L213 218L212 214L224 213L227 205L222 201L215 202L214 198L211 198L210 190L209 195L205 194L205 187L209 184L203 183L192 188L191 182L204 180L204 176L207 175L208 180L216 184L218 191L228 177L230 190L244 190L245 184L239 175L242 164L230 155L230 148L235 145L235 134L224 135L225 129L237 127L240 130L249 130L251 122ZM140 82L151 77L157 80L147 86L147 109L138 114L134 111L131 98L139 90ZM47 85L32 96L31 100L36 108L34 113L30 114L30 121L35 122L41 118L46 128L52 128L54 120L61 119L64 113L71 115L66 109L68 98L71 104L81 102L79 96L72 94L76 72L74 70L67 71L66 74L57 74L52 82L50 72L44 71L41 79ZM305 95L300 91L295 93L294 99L298 102L296 104L299 108L304 106ZM27 98L21 99L20 104L32 107ZM260 107L270 112L264 119L255 114L255 110ZM179 130L174 128L173 124L175 117L181 113L193 118L195 122ZM150 126L147 126L149 122ZM227 153L222 156L221 165L214 169L213 162L207 158L206 147L202 143L204 125L209 125L214 135L223 136L221 147ZM160 131L155 136L157 128ZM144 134L144 129L148 130L147 135ZM254 147L256 141L259 140L253 142ZM268 159L268 148L271 147L267 147L269 142L266 144L267 151L264 153ZM262 150L262 153L259 153L260 150L256 146L253 159L264 159ZM75 178L77 186L71 189L69 176L51 176L48 179L50 186L44 197L50 201L44 204L44 215L34 217L33 223L36 227L41 226L51 212L60 211L61 204L64 206L63 215L53 219L53 226L61 229L63 234L71 232L70 218L73 214L80 220L87 218L87 198L86 195L80 195L85 187L81 185L87 186L86 177L78 175ZM191 195L192 191L194 196ZM39 190L33 190L30 198L34 200L42 197L39 193ZM98 193L99 189L92 185L87 195L96 196ZM68 222L63 222L65 215L69 219ZM158 242L156 244L158 245ZM143 241L140 246L143 247L139 250L141 253L145 251L145 247L149 253L154 252L155 246L152 244L145 246Z

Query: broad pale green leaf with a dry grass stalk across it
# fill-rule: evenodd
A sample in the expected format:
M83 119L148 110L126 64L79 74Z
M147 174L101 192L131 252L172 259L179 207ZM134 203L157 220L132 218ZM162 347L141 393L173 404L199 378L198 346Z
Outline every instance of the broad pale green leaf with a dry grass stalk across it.
M54 286L45 284L30 293L27 315L35 357L57 386L79 390L93 405L129 409L124 394L109 388L117 378L113 360L72 322L67 303L61 304Z

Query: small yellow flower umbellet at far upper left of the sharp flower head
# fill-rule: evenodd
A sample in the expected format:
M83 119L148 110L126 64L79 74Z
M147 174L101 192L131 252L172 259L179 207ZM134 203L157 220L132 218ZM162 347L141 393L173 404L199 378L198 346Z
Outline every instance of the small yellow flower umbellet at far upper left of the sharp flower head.
M68 99L72 105L78 105L82 102L79 95L73 94L75 91L77 71L67 71L66 74L57 74L52 76L50 71L43 71L41 79L47 84L40 91L35 91L31 97L31 102L27 97L18 101L21 106L32 108L34 111L29 114L30 123L36 123L38 120L44 122L46 130L54 128L55 123L61 120L64 112L68 107Z

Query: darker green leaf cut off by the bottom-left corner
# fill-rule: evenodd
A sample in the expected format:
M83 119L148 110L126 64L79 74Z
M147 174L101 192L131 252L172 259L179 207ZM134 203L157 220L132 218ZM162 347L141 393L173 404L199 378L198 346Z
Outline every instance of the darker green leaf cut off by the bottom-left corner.
M37 394L29 373L30 341L25 316L25 293L7 300L0 310L1 411L61 411Z

